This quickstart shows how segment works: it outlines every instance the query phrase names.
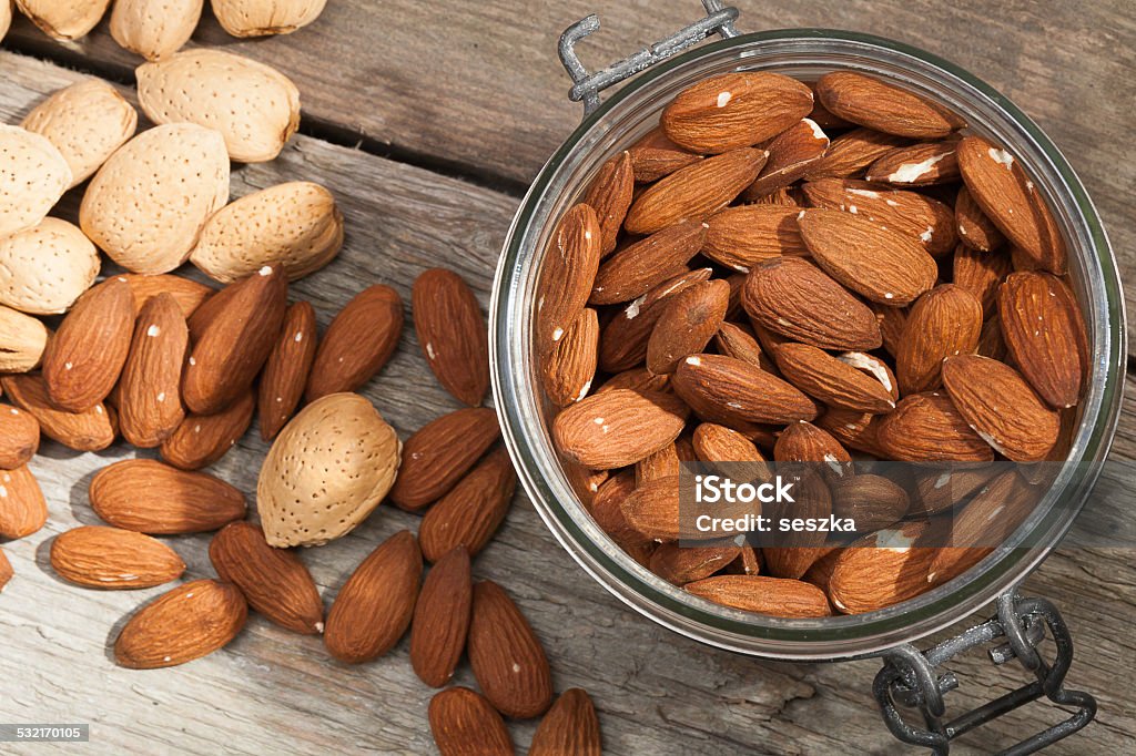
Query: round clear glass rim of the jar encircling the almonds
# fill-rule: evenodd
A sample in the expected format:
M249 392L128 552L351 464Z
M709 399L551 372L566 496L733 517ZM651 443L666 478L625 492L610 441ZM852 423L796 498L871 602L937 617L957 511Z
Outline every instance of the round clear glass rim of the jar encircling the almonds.
M601 530L574 493L553 447L552 411L533 351L536 282L557 219L600 166L657 125L694 82L735 70L815 81L855 70L895 83L962 116L970 131L1024 161L1050 202L1069 250L1074 288L1092 343L1091 376L1069 460L1010 543L921 596L867 614L797 620L735 611L688 595L638 565ZM991 602L1034 569L1080 511L1109 452L1119 415L1126 347L1116 263L1092 201L1061 152L1004 96L959 67L893 41L828 30L745 34L713 42L640 74L557 150L517 212L494 284L491 361L502 430L520 480L557 539L602 586L655 622L703 642L763 657L836 660L879 653L933 633ZM1016 548L1018 544L1028 547Z

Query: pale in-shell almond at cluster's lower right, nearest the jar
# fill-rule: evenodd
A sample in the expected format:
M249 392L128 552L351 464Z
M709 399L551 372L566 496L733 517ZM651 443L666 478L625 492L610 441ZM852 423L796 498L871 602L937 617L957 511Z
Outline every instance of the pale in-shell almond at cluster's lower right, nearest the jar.
M217 211L190 260L223 284L281 263L289 280L331 262L343 246L343 216L332 193L310 182L261 190Z

